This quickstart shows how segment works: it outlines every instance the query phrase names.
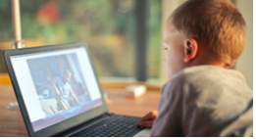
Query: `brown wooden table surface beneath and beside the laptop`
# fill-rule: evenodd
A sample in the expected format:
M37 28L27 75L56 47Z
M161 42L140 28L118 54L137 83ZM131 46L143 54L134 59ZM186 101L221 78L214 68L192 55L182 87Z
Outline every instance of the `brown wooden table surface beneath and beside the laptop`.
M157 110L160 93L148 91L138 99L127 98L122 89L110 89L108 106L110 113L144 116L149 111ZM5 106L15 102L16 97L11 85L0 85L0 136L28 136L26 125L20 111L7 110Z

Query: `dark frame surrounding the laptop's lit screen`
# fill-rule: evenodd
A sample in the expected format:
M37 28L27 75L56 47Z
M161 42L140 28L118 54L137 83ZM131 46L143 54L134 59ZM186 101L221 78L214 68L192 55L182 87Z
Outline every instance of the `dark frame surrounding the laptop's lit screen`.
M74 49L78 47L84 47L85 52L87 54L87 57L89 59L90 66L92 67L93 73L96 78L97 86L99 87L100 94L101 94L101 100L102 105L94 108L88 112L79 114L78 116L73 116L71 118L68 118L64 121L61 121L59 123L56 123L54 125L51 125L49 127L46 127L44 129L41 129L39 131L34 132L33 127L31 125L31 122L29 120L28 113L26 111L26 105L23 100L22 92L20 90L14 69L11 64L11 56L17 56L17 55L25 55L25 54L33 54L33 53L41 53L41 52L48 52L48 51L55 51L55 50L65 50L65 49ZM9 71L9 75L13 84L13 88L16 94L17 101L20 106L21 113L24 117L24 120L26 122L26 129L28 131L29 136L55 136L57 134L63 133L73 127L76 127L77 125L84 123L94 117L101 116L103 114L106 114L108 112L108 107L105 102L105 99L103 97L103 92L100 87L97 74L95 72L95 69L91 63L91 57L88 52L87 45L83 42L77 42L77 43L70 43L70 44L61 44L61 45L48 45L48 46L41 46L41 47L33 47L33 48L24 48L24 49L15 49L15 50L6 50L4 51L4 58L6 62L7 69Z

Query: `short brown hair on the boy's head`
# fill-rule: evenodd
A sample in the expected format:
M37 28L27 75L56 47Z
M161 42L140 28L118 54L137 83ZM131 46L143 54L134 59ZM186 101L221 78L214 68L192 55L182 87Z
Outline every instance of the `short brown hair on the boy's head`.
M245 46L245 22L228 0L188 0L169 18L186 38L197 39L232 67Z

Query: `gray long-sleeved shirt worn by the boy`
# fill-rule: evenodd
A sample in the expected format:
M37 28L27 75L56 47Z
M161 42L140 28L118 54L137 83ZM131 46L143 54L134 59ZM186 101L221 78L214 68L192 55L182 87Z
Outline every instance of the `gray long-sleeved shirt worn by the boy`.
M252 97L237 70L181 70L162 89L151 136L252 136Z

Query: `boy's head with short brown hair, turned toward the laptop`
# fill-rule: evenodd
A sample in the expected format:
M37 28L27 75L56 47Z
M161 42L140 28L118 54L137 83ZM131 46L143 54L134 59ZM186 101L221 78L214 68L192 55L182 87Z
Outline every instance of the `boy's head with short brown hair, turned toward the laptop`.
M169 77L186 67L231 68L245 46L245 22L229 0L188 0L165 26Z

